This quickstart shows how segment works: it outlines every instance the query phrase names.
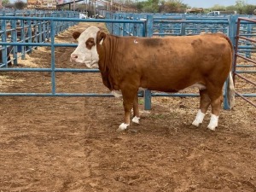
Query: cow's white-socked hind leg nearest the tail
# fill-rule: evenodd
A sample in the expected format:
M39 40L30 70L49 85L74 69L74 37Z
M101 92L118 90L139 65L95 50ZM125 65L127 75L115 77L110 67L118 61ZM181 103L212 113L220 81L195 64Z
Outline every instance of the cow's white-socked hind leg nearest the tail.
M218 116L220 113L220 107L223 102L223 94L222 90L211 90L208 91L209 97L211 99L211 107L212 107L212 114L210 123L207 126L208 129L215 131L215 128L218 126Z

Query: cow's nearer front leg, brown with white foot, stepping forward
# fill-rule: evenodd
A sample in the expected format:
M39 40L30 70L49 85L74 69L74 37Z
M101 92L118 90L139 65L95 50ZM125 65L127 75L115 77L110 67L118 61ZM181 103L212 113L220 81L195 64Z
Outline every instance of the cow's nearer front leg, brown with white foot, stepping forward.
M133 107L134 98L137 95L137 90L122 90L123 95L123 105L125 109L125 122L119 125L117 131L124 131L127 126L130 125L130 118L131 118L131 108Z

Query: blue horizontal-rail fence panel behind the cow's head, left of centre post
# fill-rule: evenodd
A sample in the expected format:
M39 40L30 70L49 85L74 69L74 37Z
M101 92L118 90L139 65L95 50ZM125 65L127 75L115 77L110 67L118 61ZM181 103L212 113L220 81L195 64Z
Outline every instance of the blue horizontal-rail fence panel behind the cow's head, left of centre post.
M36 20L37 23L42 23L49 21L50 24L50 43L37 42L34 43L32 41L23 42L0 42L1 46L22 46L22 47L36 47L36 46L46 46L51 49L51 61L50 68L15 68L15 67L0 67L0 72L49 72L51 73L51 92L50 93L0 93L0 96L112 96L112 94L95 94L95 93L58 93L56 92L55 86L55 73L56 72L77 72L77 73L99 73L98 69L76 69L76 68L55 68L55 47L76 47L77 44L55 44L55 34L59 28L56 28L56 22L106 22L106 23L130 23L133 22L140 27L138 29L141 31L141 34L145 34L145 21L142 20L96 20L96 19L76 19L76 18L55 18L55 17L44 17L44 18L36 18L36 17L12 17L12 16L0 16L1 20ZM65 25L67 26L67 25ZM71 26L71 25L68 25ZM63 29L63 28L62 28ZM32 37L32 35L31 35ZM40 39L40 38L38 38ZM138 96L143 96L143 93L139 93Z

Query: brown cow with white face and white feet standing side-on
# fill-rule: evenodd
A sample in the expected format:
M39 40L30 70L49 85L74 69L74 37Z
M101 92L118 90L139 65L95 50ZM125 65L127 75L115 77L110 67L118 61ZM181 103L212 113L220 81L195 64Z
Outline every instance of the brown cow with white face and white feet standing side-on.
M207 108L212 115L207 126L215 130L223 102L223 86L229 77L230 106L234 105L234 85L230 73L233 57L230 39L223 34L189 37L137 38L117 37L90 26L84 32L73 32L79 45L71 61L99 67L102 81L113 93L120 92L125 108L124 123L117 131L133 122L139 123L137 90L177 92L198 87L200 109L192 125L202 123ZM115 94L117 95L117 94Z

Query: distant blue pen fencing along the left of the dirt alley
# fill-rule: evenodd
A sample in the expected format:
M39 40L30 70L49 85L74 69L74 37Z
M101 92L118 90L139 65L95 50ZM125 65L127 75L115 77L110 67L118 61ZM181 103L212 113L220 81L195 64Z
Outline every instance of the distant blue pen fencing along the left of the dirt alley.
M50 37L50 20L44 20L45 18L52 16L60 16L61 18L79 18L79 13L74 11L14 11L14 12L1 12L1 31L2 42L22 42L22 43L43 43ZM30 19L29 19L30 18ZM41 18L38 20L36 18ZM55 21L54 21L55 22ZM58 21L55 22L55 31L61 32L66 30L69 26L77 24L77 21ZM9 37L10 34L10 37ZM32 49L37 49L37 46L15 46L12 50L13 59L7 61L6 56L9 46L3 46L1 48L3 61L0 63L0 67L7 65L11 61L14 65L17 65L18 57L26 59L26 54L32 52ZM21 55L17 55L17 52Z

